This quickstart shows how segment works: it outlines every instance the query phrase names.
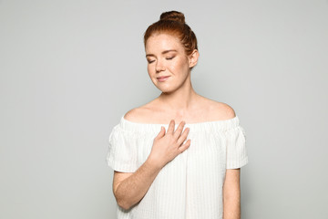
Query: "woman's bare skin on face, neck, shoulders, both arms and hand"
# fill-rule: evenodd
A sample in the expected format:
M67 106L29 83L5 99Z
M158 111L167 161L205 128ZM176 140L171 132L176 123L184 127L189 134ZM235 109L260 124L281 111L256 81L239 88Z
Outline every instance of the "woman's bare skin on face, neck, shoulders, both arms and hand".
M149 78L161 90L158 98L136 109L129 110L124 118L140 123L168 124L156 136L149 158L136 172L114 172L113 193L118 205L128 210L147 193L149 186L169 161L187 150L192 142L187 140L189 129L185 122L197 123L234 118L234 110L226 103L200 96L192 88L191 68L196 66L199 52L185 53L179 38L169 34L150 36L146 47ZM169 76L165 82L157 77ZM155 121L155 122L154 122ZM174 131L175 123L179 123ZM241 169L226 170L223 184L223 218L241 218Z

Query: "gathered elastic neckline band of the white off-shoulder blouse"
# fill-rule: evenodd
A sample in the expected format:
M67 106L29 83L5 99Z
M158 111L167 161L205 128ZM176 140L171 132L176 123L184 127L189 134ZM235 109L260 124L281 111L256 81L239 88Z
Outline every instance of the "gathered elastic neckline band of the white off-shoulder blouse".
M234 118L228 120L212 120L212 121L201 121L196 123L186 123L184 129L189 127L190 132L196 131L213 131L213 130L230 130L239 126L240 120L236 115ZM120 127L123 130L144 132L144 131L158 131L160 127L165 127L168 130L168 124L159 123L141 123L124 119L124 115L121 117L119 122ZM179 126L179 123L175 124L175 129ZM174 129L174 130L175 130Z

